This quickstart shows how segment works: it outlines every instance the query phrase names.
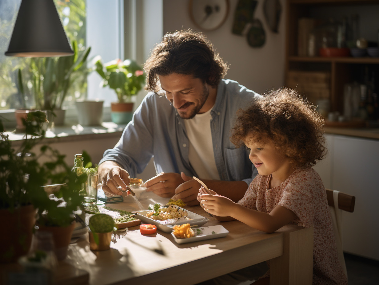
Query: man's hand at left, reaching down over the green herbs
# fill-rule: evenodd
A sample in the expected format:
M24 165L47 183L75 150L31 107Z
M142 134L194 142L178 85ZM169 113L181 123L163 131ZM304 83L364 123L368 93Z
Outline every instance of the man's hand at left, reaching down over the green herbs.
M105 193L122 195L122 192L127 190L127 185L130 184L128 171L114 161L105 161L100 164L98 173ZM117 188L119 186L121 186L121 191Z

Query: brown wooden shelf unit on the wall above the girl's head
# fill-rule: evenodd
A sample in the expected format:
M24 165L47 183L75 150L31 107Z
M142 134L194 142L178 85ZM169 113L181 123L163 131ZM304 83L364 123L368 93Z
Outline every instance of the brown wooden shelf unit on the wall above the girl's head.
M286 3L285 86L308 95L314 105L318 99L329 99L330 111L343 114L344 85L353 81L362 82L366 69L370 76L373 71L378 73L379 58L299 56L299 19L326 20L333 17L341 20L344 15L359 14L361 36L365 34L366 39L376 41L379 17L375 11L379 11L379 0L287 0ZM302 35L300 39L305 39ZM304 44L301 48L301 54L304 54ZM314 78L312 73L315 74ZM316 76L324 76L327 81L319 83Z

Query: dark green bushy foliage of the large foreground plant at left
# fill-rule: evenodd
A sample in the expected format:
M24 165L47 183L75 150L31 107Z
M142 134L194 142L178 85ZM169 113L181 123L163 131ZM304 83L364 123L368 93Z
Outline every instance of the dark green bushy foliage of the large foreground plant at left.
M45 112L30 112L23 124L24 139L14 148L0 120L0 209L14 210L33 204L38 209L39 224L67 226L74 219L73 211L83 201L79 185L86 181L87 174L72 173L64 162L65 156L49 145L42 145L38 155L34 153L45 137ZM43 186L58 183L63 185L49 197Z

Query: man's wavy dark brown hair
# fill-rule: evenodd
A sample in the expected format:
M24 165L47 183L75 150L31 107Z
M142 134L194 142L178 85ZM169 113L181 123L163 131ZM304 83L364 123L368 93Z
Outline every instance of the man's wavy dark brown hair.
M193 75L210 86L217 86L228 69L202 33L190 29L167 33L144 64L145 90L158 92L158 75L171 73Z

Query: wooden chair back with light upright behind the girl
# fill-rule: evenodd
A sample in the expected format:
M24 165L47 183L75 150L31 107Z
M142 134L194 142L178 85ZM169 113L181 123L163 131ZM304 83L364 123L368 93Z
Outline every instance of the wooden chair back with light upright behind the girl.
M354 212L355 196L348 195L336 190L326 190L326 196L328 199L330 213L332 215L333 229L335 240L337 244L338 258L342 263L342 267L345 271L346 277L348 276L345 264L345 258L343 257L342 248L342 211ZM337 208L337 209L336 209Z

